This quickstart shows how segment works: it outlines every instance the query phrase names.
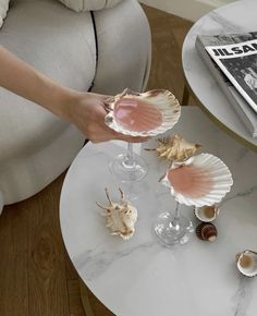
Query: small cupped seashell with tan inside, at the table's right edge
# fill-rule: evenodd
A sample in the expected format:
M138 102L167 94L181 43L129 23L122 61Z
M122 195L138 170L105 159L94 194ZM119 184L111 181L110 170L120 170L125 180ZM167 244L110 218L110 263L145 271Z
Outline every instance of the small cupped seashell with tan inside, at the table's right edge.
M257 276L257 253L244 251L236 255L237 269L246 277Z

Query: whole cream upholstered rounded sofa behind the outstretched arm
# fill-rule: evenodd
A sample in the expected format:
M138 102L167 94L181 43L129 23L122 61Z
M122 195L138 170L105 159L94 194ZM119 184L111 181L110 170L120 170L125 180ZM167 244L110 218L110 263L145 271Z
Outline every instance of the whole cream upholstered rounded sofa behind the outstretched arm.
M135 0L94 13L74 12L57 0L14 0L0 29L0 45L77 90L142 90L150 66L150 32ZM63 172L83 146L75 126L0 88L0 209L27 198Z

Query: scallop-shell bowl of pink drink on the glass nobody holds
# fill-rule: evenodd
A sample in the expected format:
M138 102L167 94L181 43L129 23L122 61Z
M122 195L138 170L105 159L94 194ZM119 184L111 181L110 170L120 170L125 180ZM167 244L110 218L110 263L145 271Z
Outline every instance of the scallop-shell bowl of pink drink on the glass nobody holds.
M173 161L161 183L170 187L179 203L201 207L219 203L230 191L233 180L220 158L200 154L183 162Z

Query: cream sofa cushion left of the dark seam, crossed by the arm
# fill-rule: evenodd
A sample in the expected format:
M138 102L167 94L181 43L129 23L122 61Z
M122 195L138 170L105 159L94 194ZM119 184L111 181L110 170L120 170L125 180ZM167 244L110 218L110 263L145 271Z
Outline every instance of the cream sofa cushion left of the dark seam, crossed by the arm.
M64 86L87 90L94 78L90 14L77 14L56 0L14 1L0 31L0 45ZM3 88L0 112L0 163L10 157L32 155L68 125Z

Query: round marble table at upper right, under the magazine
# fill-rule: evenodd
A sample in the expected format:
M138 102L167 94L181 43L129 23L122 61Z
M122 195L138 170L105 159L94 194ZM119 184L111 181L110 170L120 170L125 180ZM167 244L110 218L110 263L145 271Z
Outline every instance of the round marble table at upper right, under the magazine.
M199 100L203 110L209 114L232 137L257 151L257 138L253 138L237 113L228 101L209 69L195 49L198 34L217 35L257 31L257 1L235 1L221 7L198 20L183 44L182 61L187 86Z

